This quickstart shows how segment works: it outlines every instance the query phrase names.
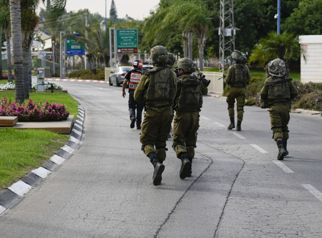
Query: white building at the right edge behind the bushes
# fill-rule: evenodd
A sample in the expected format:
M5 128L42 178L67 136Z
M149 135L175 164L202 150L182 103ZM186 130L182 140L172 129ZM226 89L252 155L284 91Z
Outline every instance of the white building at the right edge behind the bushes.
M301 82L322 82L322 35L301 35Z

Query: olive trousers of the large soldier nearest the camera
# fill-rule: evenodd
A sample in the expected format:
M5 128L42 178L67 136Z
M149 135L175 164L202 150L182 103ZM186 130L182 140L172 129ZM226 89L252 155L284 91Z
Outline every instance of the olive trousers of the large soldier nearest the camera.
M147 108L141 127L140 142L142 150L147 156L150 152L156 152L159 161L166 159L166 140L171 128L172 109L156 112Z

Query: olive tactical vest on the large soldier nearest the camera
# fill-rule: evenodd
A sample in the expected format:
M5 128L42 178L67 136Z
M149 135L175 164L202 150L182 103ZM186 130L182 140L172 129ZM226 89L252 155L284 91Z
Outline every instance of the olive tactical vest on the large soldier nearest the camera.
M150 76L149 86L145 92L145 104L147 108L172 106L175 97L173 74L171 69L156 67L143 73Z

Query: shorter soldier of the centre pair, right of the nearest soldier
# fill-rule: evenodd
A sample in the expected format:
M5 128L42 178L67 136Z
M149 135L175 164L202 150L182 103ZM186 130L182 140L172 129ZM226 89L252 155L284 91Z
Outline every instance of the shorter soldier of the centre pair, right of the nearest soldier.
M189 58L181 58L177 63L177 90L175 94L175 117L173 124L173 145L177 158L181 160L180 179L190 177L191 164L194 158L194 148L199 129L199 112L202 107L202 95L208 93L208 88L197 76L193 76L197 68Z

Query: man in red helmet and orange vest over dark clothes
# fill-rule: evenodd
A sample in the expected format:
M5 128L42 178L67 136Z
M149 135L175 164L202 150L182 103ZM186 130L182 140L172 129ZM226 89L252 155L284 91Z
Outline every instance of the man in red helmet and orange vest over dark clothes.
M138 103L134 100L134 90L136 89L142 73L140 69L143 67L141 60L134 60L132 66L134 69L127 72L125 79L122 85L122 96L125 97L125 88L128 83L128 111L130 112L130 127L134 128L135 120L137 121L137 130L141 129L142 122L142 111L144 108L143 103ZM137 110L137 115L135 116L135 109Z

